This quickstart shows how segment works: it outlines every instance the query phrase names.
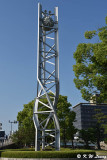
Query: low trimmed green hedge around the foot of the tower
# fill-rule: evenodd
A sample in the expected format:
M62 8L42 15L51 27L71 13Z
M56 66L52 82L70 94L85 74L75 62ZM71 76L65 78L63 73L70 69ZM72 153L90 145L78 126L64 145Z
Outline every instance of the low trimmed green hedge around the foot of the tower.
M86 154L96 155L92 150L71 150L71 151L1 151L3 158L77 158ZM82 157L81 157L82 158Z

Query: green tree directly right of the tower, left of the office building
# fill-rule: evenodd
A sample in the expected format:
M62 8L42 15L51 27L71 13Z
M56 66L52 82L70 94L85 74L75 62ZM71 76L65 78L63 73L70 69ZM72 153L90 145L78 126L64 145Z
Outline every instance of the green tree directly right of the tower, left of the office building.
M73 126L76 114L71 111L70 107L71 104L67 101L67 96L60 95L57 105L57 115L60 123L61 140L64 143L64 147L66 147L68 140L72 140L73 142L74 134L77 131L77 129Z

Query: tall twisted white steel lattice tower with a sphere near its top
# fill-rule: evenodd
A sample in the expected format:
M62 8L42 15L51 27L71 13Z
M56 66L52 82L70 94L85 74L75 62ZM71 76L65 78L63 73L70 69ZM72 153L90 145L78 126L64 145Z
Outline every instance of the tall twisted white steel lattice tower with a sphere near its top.
M34 106L35 150L52 146L60 150L56 114L59 96L58 7L54 13L38 4L37 98Z

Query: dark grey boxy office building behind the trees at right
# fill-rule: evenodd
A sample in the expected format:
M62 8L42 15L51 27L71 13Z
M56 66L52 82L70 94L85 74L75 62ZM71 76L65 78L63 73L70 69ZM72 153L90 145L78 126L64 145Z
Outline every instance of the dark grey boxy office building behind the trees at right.
M107 104L79 103L74 106L73 111L76 113L74 126L79 130L94 127L96 120L93 116L96 114L96 109L107 115Z

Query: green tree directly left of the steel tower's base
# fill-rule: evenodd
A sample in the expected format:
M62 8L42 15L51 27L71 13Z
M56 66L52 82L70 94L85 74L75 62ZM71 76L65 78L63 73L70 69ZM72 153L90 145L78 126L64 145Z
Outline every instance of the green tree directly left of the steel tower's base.
M18 131L13 135L13 141L20 147L30 146L34 143L35 128L33 125L33 107L34 100L25 104L23 110L18 112Z

